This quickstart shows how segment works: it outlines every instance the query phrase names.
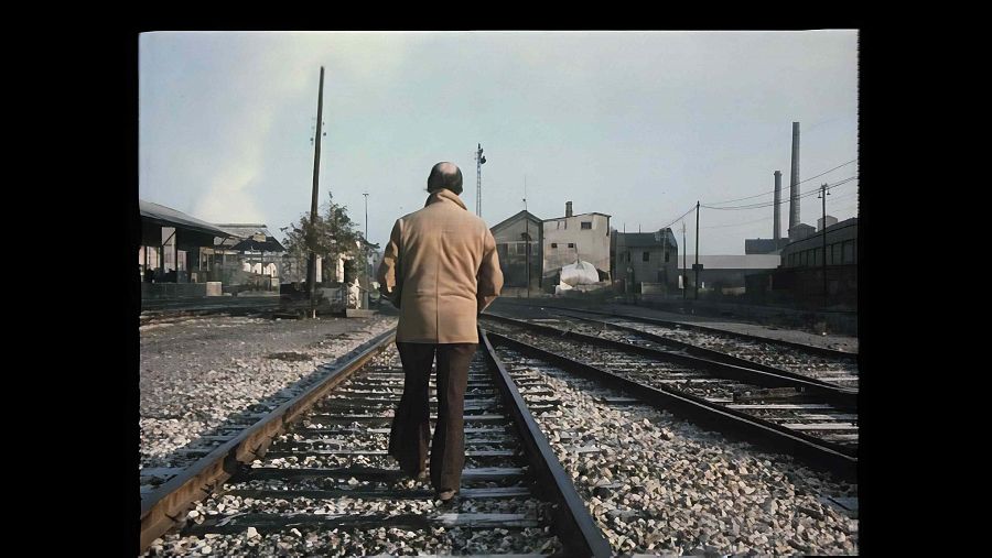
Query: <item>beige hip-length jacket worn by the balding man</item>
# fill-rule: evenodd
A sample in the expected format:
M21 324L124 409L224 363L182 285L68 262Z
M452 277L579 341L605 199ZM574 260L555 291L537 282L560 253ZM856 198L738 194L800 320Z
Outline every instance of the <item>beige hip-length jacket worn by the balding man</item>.
M448 189L397 219L378 280L400 309L396 340L411 343L477 343L476 318L503 288L493 233Z

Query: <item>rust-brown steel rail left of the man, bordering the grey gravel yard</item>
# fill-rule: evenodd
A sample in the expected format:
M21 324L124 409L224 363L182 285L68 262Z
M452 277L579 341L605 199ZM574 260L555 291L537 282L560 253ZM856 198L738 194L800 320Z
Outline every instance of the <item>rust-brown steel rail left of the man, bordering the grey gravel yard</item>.
M190 504L207 497L214 489L237 473L241 463L250 463L262 457L272 440L285 431L287 426L302 418L306 409L364 366L395 337L396 329L393 328L366 341L355 349L358 351L357 354L336 366L323 380L282 403L255 425L241 430L240 434L143 496L138 552L143 552L155 538L180 523Z

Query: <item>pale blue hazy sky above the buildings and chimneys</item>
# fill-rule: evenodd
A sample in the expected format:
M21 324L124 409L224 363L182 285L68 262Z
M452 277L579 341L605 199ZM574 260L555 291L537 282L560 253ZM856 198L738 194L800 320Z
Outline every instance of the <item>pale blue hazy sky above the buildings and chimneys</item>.
M423 207L434 163L462 168L475 211L478 144L490 227L524 209L526 180L539 218L572 201L621 231L672 227L680 244L684 222L688 253L697 201L770 203L776 169L788 199L792 122L800 179L840 166L804 194L856 177L854 30L154 32L139 35L139 197L281 240L310 211L321 66L320 201L364 229L368 193L380 244ZM856 217L856 178L831 188L827 214ZM818 195L800 203L816 227ZM701 254L772 238L772 207L711 207ZM780 216L785 236L788 204Z

